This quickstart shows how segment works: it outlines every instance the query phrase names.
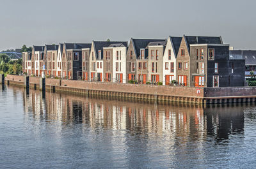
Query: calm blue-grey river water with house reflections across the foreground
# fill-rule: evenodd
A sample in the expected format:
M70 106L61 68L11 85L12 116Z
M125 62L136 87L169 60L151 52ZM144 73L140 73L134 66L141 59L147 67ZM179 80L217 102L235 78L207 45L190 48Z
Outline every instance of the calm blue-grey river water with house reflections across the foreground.
M254 104L0 90L0 168L256 168Z

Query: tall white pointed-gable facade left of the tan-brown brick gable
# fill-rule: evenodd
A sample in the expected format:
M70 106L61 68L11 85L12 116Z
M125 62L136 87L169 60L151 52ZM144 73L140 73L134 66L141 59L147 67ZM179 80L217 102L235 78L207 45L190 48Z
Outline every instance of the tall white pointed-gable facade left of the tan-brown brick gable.
M170 58L169 58L170 56ZM167 66L166 66L167 63ZM173 64L173 71L171 71L171 65ZM166 75L170 76L169 80L172 83L172 80L176 79L176 57L173 48L171 38L169 36L166 48L163 55L163 85L166 85Z

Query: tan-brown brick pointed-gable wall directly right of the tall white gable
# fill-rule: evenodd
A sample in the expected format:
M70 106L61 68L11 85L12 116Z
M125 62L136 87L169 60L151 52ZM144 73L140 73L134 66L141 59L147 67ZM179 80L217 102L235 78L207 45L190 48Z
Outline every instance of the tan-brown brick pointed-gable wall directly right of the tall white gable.
M184 49L185 54L184 56L181 56L181 50ZM182 63L182 68L181 70L179 70L179 62ZM188 70L184 70L184 62L188 62ZM177 59L176 59L176 80L177 82L179 81L179 75L183 75L183 76L187 76L187 86L190 86L190 66L189 66L189 62L190 62L190 55L188 52L188 47L186 45L186 40L184 38L184 36L182 37L181 43L180 43L180 48L179 48L179 52L177 55Z

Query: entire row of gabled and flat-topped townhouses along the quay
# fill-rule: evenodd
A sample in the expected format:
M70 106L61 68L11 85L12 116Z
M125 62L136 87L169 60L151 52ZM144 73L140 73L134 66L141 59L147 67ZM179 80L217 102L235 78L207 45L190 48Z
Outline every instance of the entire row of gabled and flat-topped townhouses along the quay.
M92 41L33 46L28 75L99 82L227 87L244 85L244 59L229 57L221 36Z

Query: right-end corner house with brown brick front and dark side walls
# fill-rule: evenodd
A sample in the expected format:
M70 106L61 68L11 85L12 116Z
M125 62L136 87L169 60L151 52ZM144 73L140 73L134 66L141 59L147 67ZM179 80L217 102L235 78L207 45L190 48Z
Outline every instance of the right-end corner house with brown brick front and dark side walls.
M230 59L229 45L195 44L191 48L191 86L244 86L244 59Z

